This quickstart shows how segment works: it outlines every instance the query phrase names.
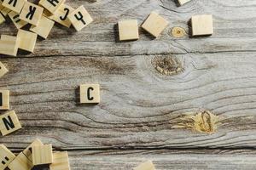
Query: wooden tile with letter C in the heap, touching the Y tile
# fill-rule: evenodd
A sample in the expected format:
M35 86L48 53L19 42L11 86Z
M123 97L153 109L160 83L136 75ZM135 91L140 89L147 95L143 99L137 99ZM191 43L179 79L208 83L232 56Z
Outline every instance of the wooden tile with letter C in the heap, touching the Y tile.
M71 22L67 19L67 15L71 14L73 11L74 8L68 6L67 4L61 4L60 8L55 11L55 14L49 16L49 19L55 20L55 22L69 28L71 26Z

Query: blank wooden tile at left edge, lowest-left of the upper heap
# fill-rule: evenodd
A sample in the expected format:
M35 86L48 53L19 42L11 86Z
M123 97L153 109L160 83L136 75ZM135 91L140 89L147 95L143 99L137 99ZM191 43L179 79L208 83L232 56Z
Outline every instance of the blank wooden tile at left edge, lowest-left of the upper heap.
M0 40L0 54L16 56L20 39L18 37L2 35Z

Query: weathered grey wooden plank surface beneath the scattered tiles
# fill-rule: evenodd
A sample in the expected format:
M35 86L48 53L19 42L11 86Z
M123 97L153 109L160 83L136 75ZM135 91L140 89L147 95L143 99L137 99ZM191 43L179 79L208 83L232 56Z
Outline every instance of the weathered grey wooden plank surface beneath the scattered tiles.
M94 22L75 32L55 25L34 54L1 55L11 109L23 129L0 143L20 151L39 138L68 150L72 169L254 169L256 157L256 1L67 0ZM170 21L153 39L118 42L118 20L142 23L156 10ZM189 18L212 14L212 37L189 37ZM187 34L172 36L172 27ZM7 22L0 34L15 35ZM177 74L170 72L177 71ZM79 84L102 86L99 105L79 105ZM220 117L217 132L175 128L189 111Z

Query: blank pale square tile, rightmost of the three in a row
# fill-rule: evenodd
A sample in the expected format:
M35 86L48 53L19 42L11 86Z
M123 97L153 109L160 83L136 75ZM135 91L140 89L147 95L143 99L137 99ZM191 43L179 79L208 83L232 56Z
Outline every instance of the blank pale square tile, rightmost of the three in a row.
M213 34L212 14L192 16L191 25L192 36L209 36Z

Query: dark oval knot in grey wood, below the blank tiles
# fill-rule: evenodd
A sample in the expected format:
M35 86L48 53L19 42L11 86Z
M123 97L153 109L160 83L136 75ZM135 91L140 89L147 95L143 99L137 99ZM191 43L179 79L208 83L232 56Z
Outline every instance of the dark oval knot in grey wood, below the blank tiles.
M172 76L183 71L181 62L172 56L155 56L152 59L154 69L162 75Z

